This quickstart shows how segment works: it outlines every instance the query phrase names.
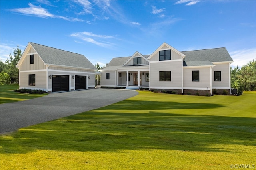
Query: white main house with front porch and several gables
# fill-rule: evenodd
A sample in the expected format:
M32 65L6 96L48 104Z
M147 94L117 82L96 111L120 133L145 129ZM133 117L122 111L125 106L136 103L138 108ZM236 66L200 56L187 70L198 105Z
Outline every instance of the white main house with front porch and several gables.
M212 94L230 91L230 64L226 48L178 51L163 43L151 55L135 52L113 58L101 69L101 87L126 87L176 93Z

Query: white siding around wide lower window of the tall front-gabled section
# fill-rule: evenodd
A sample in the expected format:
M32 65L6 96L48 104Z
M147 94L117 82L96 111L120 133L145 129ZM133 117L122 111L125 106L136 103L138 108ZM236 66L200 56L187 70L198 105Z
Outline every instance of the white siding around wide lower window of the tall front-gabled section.
M171 71L171 81L159 81L159 71ZM150 88L181 89L182 60L166 60L150 63Z

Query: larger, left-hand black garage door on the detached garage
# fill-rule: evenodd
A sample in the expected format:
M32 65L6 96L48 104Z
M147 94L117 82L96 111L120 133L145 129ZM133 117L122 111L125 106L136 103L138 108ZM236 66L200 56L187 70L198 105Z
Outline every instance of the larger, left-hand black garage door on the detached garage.
M52 75L52 92L69 91L68 75Z

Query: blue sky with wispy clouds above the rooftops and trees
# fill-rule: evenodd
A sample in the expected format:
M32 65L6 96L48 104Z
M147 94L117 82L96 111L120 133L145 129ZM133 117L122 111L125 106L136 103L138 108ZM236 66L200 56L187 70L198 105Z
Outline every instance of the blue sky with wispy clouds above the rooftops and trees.
M256 1L0 1L0 56L34 42L88 58L147 55L166 42L179 51L226 47L241 67L256 59Z

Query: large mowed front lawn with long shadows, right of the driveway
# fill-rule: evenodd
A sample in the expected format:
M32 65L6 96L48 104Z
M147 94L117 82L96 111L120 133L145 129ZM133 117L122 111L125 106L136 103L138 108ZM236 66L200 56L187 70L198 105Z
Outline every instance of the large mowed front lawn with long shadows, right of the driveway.
M1 169L252 167L255 109L255 92L204 97L139 91L106 107L1 135Z

